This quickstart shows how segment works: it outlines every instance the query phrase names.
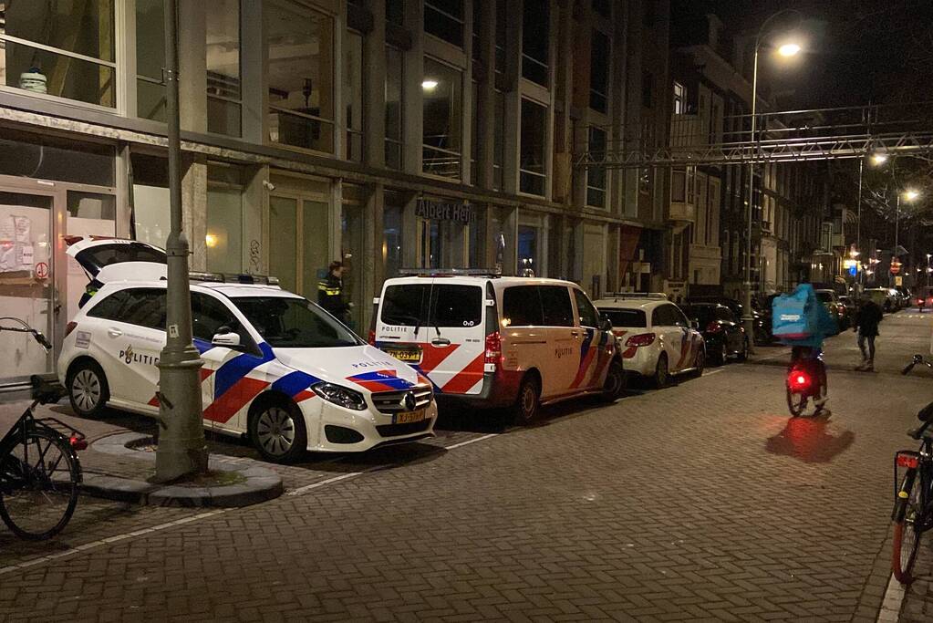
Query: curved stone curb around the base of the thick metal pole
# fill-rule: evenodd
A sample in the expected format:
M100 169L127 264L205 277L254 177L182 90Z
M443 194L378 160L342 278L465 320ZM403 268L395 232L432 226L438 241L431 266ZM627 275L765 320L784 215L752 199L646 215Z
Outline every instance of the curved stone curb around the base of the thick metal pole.
M141 433L118 433L104 436L91 444L91 448L136 461L156 462L153 452L127 448L129 444L150 439ZM208 467L218 472L240 472L246 482L221 487L183 487L157 485L145 480L86 475L81 491L94 497L150 506L183 507L240 507L260 504L282 495L282 478L271 469L260 467L248 459L243 464L218 461L211 458Z

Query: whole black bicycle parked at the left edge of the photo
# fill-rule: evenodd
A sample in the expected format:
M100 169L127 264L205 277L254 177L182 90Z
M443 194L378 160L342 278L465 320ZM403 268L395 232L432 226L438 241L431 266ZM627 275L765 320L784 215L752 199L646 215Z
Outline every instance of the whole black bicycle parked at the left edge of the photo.
M51 344L17 318L22 327L0 331L30 333L46 352ZM54 375L34 375L32 404L0 439L0 519L22 539L41 541L63 531L77 506L81 464L77 450L87 440L77 429L56 418L35 418L40 404L58 402L64 388Z

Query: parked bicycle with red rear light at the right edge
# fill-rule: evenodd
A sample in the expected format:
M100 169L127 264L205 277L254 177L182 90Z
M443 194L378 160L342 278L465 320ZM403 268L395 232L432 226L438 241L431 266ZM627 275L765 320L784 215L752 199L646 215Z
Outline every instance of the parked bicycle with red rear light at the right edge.
M901 374L909 373L917 364L933 368L933 363L915 354L911 364L901 370ZM901 584L911 583L920 539L923 533L933 528L933 434L926 430L933 424L933 402L920 409L917 419L923 423L907 431L907 434L920 442L920 450L898 450L894 455L895 500L891 512L894 548L891 571ZM903 478L898 478L901 468L906 471Z

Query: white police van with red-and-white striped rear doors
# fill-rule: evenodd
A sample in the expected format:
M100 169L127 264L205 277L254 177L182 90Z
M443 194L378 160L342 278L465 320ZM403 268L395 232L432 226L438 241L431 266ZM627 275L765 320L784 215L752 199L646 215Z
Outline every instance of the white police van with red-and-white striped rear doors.
M611 325L577 284L448 270L389 279L369 341L421 372L439 400L515 408L584 394L615 399L622 360Z

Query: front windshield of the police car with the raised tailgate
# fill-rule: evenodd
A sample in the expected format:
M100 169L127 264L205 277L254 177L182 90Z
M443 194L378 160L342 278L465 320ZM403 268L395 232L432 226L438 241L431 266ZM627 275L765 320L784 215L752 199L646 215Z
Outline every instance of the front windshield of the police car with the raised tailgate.
M337 348L363 343L350 329L304 298L232 300L273 348Z

